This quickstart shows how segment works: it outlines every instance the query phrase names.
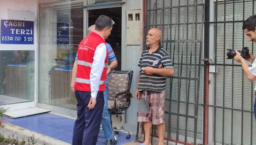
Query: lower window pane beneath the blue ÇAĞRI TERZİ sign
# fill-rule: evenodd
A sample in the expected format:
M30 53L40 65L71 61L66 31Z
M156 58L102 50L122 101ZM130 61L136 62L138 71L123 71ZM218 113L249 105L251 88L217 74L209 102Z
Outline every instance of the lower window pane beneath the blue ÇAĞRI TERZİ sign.
M34 100L34 51L0 51L0 105Z

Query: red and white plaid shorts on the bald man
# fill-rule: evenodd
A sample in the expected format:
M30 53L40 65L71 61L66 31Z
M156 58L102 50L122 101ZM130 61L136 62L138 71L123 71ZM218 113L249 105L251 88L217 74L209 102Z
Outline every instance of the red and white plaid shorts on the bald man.
M137 112L138 122L164 123L165 91L144 90L141 92Z

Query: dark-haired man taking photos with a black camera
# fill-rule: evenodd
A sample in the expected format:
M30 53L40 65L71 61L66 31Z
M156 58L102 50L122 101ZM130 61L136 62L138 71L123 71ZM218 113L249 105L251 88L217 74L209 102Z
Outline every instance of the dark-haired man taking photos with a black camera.
M252 15L246 21L244 21L242 29L244 30L244 33L247 35L249 41L256 42L256 15ZM236 60L237 62L241 62L244 74L246 75L248 80L252 82L256 80L256 61L255 56L253 56L250 52L249 55L250 58L245 59L236 50L236 56L234 57L234 60ZM252 62L252 66L249 67L246 60L248 62ZM254 90L256 91L256 85L254 87ZM254 101L254 117L256 119L256 100Z

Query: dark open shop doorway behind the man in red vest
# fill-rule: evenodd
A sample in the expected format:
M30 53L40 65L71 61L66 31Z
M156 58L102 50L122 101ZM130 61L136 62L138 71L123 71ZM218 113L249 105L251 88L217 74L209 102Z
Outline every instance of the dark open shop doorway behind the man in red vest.
M115 22L106 42L111 45L117 58L118 65L115 69L121 70L122 7L88 10L88 27L95 24L101 15L106 15Z

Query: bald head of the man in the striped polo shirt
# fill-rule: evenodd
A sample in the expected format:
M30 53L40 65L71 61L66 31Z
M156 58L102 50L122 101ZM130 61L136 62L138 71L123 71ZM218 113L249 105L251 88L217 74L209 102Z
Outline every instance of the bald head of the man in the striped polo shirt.
M161 37L162 37L162 31L157 28L152 28L149 30L149 32L147 34L146 44L149 46L154 45L154 44L159 44Z

